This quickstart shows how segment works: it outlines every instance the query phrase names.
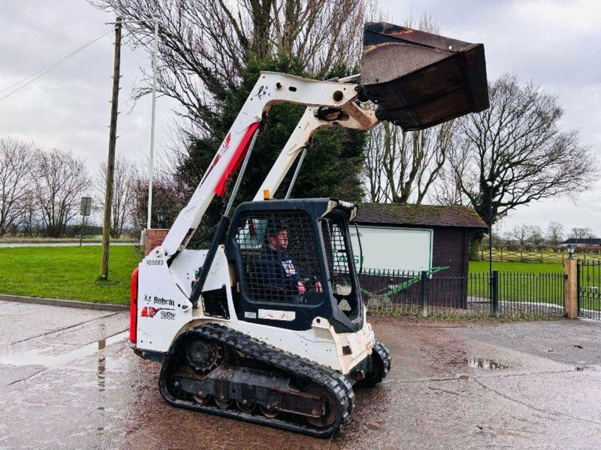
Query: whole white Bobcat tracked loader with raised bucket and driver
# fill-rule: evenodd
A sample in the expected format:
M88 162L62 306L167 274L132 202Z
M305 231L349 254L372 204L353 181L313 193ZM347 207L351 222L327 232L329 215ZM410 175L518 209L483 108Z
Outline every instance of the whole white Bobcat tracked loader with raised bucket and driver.
M328 436L352 413L353 389L386 377L390 355L366 320L350 244L357 206L289 199L291 188L273 197L300 158L294 184L320 128L369 130L389 120L419 130L485 109L484 49L368 23L355 79L261 73L188 205L134 271L130 340L138 355L162 362L169 404ZM230 214L257 133L282 102L305 113L254 199ZM238 169L210 248L186 248Z

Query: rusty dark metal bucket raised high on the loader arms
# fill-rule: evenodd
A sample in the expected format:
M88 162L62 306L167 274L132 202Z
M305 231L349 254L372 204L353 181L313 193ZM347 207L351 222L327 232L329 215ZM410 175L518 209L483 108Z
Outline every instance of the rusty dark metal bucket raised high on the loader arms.
M361 86L406 131L489 107L483 44L383 22L365 24Z

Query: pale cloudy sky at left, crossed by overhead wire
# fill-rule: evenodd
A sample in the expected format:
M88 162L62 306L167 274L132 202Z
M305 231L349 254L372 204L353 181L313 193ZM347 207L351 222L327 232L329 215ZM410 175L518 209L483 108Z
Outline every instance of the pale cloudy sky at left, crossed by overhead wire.
M87 2L3 2L0 14L0 89L37 72L73 52L114 20ZM81 53L11 97L0 101L0 134L32 140L45 148L73 151L95 172L108 154L114 34ZM142 98L129 113L132 86L140 67L151 62L141 50L123 46L117 126L117 154L144 160L150 149L151 99ZM169 144L171 109L157 101L156 149Z

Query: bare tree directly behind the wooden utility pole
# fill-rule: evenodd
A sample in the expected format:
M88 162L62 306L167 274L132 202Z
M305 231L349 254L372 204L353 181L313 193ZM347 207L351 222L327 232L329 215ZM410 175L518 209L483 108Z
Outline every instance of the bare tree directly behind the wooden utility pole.
M111 205L111 238L120 238L130 220L135 184L135 167L124 157L115 160L113 199ZM99 209L105 207L106 162L100 164L96 174L96 203Z

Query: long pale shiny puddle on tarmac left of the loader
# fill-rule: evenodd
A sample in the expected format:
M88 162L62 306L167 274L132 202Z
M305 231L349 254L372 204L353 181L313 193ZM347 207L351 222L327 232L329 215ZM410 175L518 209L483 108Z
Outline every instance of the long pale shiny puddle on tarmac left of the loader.
M102 339L91 344L87 344L79 349L71 352L63 353L62 355L42 355L39 352L17 352L16 350L3 349L0 350L0 364L10 365L44 365L47 368L59 367L65 365L75 359L85 358L96 353L98 350L105 349L106 346L117 343L127 337L129 331L123 331L106 339ZM104 365L104 363L102 364ZM100 364L99 364L100 372Z

